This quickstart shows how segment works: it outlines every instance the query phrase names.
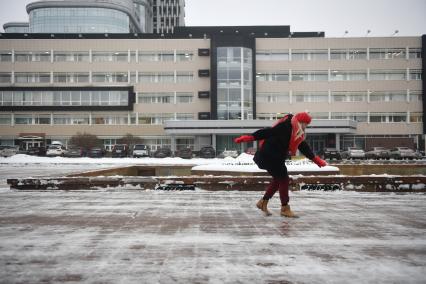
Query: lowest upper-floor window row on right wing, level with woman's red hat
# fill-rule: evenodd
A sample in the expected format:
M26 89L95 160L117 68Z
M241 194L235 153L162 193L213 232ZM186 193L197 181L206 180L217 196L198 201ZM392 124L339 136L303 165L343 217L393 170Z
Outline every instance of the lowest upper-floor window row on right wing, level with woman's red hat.
M313 119L348 119L357 122L379 122L379 123L398 123L423 122L423 113L421 112L313 112L310 113ZM257 119L277 120L282 114L277 113L259 113Z

